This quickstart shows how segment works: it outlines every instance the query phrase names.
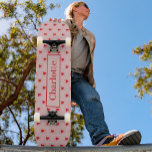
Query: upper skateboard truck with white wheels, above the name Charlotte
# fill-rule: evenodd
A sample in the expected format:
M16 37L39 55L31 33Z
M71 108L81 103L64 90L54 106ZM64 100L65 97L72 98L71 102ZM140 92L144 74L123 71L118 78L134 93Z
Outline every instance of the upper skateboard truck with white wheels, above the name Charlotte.
M37 38L37 45L42 45L43 43L48 44L50 46L51 51L58 51L58 46L60 44L66 44L66 46L71 45L71 38L67 37L66 40L43 40L42 37Z

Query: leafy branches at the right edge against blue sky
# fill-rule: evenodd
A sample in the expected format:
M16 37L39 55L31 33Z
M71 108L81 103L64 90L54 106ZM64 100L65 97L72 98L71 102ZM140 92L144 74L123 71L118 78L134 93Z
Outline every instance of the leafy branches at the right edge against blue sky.
M142 99L144 94L152 96L152 41L144 44L143 47L137 47L133 53L140 57L140 60L145 62L144 67L135 68L133 76L136 79L134 88L138 91L138 96Z

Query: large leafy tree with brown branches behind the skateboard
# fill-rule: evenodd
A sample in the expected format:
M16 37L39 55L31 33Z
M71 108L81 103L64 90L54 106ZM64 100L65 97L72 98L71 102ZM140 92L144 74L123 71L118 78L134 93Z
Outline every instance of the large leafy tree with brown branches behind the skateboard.
M59 7L46 0L0 2L0 20L10 21L7 34L0 37L0 138L1 144L26 145L34 137L34 81L37 31L48 10ZM84 121L72 108L72 129L68 146L83 138ZM80 120L77 123L77 120ZM17 130L12 130L12 125Z

